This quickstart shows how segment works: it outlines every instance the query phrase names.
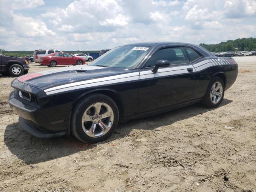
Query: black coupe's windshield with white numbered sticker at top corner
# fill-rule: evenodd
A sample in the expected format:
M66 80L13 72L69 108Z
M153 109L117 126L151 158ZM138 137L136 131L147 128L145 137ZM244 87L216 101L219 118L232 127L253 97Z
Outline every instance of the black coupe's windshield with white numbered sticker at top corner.
M149 47L122 46L116 47L92 62L93 66L106 66L117 68L133 68L149 51Z

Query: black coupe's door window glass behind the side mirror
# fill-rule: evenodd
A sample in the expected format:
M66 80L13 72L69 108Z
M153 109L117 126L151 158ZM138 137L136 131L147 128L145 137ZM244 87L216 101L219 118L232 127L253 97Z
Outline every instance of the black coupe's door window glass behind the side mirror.
M144 67L154 67L160 59L168 60L170 65L188 63L188 58L182 47L165 48L158 50L148 60Z

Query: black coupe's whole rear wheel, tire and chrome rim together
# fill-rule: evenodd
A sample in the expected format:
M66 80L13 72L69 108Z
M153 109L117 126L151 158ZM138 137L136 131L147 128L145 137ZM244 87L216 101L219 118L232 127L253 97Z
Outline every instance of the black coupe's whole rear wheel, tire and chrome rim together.
M208 85L204 98L201 103L210 108L216 108L223 100L225 85L220 77L213 77Z

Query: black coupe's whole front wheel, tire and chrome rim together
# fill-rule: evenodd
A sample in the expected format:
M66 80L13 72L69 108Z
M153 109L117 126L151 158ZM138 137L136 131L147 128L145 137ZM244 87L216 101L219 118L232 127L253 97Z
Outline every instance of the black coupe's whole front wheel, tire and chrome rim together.
M111 98L103 94L90 94L74 106L71 132L82 142L101 142L114 132L118 121L118 107Z

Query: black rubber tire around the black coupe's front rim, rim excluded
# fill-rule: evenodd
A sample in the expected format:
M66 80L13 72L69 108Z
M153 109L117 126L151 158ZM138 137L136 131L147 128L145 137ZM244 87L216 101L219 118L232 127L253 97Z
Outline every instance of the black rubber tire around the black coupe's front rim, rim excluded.
M99 137L91 137L88 136L83 130L82 127L82 117L84 112L92 105L97 102L103 102L108 104L114 114L114 120L111 128L106 132L106 134ZM99 113L100 116L100 113ZM82 98L78 103L74 106L72 110L72 115L70 119L70 129L76 138L86 143L97 143L106 140L111 134L114 132L115 128L118 125L119 121L119 111L116 103L106 95L103 94L89 94L88 96ZM92 122L93 123L93 122ZM98 123L97 123L98 124Z

